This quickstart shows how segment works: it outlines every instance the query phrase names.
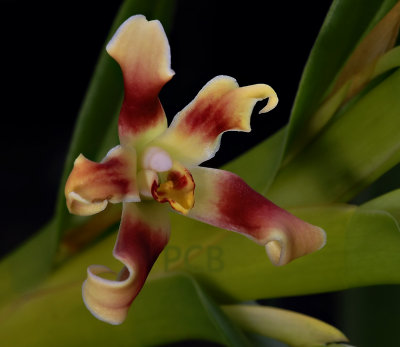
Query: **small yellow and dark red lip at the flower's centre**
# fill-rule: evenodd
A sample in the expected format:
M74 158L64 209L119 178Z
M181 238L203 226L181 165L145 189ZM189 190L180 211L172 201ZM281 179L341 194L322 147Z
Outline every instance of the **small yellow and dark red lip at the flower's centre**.
M169 202L171 207L187 214L194 205L195 184L189 170L174 161L170 171L160 173L162 183L153 183L151 193L158 202Z

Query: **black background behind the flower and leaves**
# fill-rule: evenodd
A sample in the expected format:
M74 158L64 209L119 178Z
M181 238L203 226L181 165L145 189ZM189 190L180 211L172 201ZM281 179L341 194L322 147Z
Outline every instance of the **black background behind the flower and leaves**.
M0 1L0 255L17 247L54 212L79 107L120 4L111 0L82 3ZM329 1L315 1L312 6L294 1L177 3L168 33L176 75L161 94L170 120L219 74L236 78L240 85L270 84L280 98L274 111L252 118L251 134L223 136L221 150L207 163L217 167L287 122ZM344 310L344 305L352 302L354 308L358 301L365 305L362 295L383 293L368 290L372 293L348 291L267 303L311 314L353 337L357 327L351 317L357 314ZM380 308L377 302L371 305ZM382 305L390 307L390 302ZM377 319L379 314L386 317L381 311Z

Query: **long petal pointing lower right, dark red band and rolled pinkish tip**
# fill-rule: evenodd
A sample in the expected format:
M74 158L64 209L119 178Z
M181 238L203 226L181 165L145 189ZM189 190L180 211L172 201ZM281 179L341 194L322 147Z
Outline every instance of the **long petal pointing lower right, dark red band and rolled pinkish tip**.
M325 232L281 209L251 189L239 176L217 169L191 169L196 204L188 217L239 232L265 245L275 265L325 245Z

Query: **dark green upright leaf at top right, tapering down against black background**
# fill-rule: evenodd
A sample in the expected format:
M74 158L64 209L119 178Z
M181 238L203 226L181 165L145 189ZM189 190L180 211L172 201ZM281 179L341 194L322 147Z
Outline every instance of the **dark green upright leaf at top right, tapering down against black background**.
M393 8L396 0L336 0L322 25L305 66L290 118L286 155L304 141L304 129L333 88L335 80L363 37Z

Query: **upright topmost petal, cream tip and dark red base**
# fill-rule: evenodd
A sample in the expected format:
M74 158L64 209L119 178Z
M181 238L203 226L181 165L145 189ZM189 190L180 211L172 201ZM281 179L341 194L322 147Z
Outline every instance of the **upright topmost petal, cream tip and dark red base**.
M158 94L174 72L161 23L142 15L127 19L107 45L122 69L125 97L118 129L121 144L138 147L167 128Z

